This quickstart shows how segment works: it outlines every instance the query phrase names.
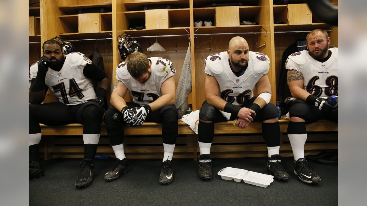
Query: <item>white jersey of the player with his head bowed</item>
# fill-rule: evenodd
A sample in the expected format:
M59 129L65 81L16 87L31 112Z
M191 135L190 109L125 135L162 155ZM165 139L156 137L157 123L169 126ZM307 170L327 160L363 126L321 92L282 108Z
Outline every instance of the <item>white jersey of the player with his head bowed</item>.
M170 60L162 57L148 59L152 64L152 73L149 79L142 84L131 77L126 62L121 62L116 68L116 79L127 87L134 102L140 105L149 104L162 96L163 82L176 73Z

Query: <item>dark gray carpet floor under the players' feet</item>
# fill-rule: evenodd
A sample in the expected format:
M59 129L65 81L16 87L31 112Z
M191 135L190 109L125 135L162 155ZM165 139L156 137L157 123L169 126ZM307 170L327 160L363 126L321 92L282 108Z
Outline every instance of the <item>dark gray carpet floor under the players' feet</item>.
M80 159L42 161L46 175L29 181L29 205L338 205L338 166L309 161L321 183L307 185L294 175L292 157L283 158L290 179L274 180L268 188L222 180L217 175L225 167L268 174L266 158L213 159L211 181L199 179L197 161L174 159L174 180L169 185L158 182L159 159L130 159L131 171L113 182L106 182L103 176L115 160L96 160L92 184L83 189L74 186L79 162Z

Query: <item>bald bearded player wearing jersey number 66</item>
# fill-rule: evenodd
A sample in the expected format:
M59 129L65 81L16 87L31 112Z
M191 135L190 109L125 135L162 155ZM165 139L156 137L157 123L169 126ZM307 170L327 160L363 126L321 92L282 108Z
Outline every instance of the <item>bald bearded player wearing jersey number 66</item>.
M280 126L277 109L269 103L271 87L268 78L270 59L251 52L247 41L233 37L228 50L211 54L205 60L205 97L199 113L200 147L199 177L212 178L210 147L214 138L214 122L238 119L236 126L246 128L252 121L262 123L262 135L268 147L268 171L278 180L287 180L281 165ZM256 88L259 96L254 96Z

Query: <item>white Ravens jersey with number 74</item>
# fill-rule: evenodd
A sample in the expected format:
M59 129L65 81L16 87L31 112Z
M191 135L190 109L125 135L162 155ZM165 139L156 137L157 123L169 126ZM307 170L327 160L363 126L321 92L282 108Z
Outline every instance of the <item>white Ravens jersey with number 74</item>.
M83 74L84 66L92 64L84 54L72 52L66 55L60 71L48 69L45 83L50 91L57 96L60 102L68 105L77 105L95 99L92 82ZM30 67L30 77L36 78L37 62Z

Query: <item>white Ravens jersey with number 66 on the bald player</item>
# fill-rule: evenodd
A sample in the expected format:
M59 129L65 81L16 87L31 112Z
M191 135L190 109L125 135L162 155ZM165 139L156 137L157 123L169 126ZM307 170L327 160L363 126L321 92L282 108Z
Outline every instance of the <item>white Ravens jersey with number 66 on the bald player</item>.
M259 79L268 73L270 59L262 53L249 51L248 66L237 77L231 70L227 52L211 54L205 59L204 71L214 76L219 84L219 97L235 105L244 105L254 96Z

